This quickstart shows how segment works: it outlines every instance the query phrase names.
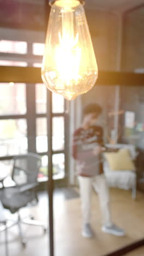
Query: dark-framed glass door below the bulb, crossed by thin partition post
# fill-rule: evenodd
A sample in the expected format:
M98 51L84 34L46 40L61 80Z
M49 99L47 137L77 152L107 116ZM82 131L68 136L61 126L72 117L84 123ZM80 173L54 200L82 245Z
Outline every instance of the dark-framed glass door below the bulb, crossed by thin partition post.
M44 84L35 84L35 124L36 124L36 151L41 155L42 166L39 181L47 181L48 165L48 138L47 138L47 91ZM48 104L48 106L46 106ZM67 127L64 98L52 94L52 164L53 179L56 183L66 182L65 145L67 145ZM48 135L49 136L49 135Z

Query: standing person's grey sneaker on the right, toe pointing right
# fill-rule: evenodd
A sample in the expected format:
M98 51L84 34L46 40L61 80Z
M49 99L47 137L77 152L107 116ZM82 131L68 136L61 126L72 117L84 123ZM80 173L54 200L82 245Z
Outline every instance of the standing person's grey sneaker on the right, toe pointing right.
M121 228L118 228L115 224L111 224L110 226L102 226L101 230L105 233L109 233L115 236L124 236L125 231Z

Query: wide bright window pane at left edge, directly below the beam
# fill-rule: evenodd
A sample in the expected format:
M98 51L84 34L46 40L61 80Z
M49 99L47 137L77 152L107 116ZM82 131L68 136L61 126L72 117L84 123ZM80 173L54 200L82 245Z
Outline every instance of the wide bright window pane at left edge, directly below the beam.
M0 83L0 115L26 113L26 84Z

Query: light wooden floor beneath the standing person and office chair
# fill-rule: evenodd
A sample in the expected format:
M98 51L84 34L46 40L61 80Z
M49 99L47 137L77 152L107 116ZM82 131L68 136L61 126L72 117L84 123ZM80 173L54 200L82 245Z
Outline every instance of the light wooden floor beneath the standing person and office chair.
M22 210L22 215L33 213L35 218L46 223L47 196L41 195L39 206ZM137 193L131 198L130 191L111 189L111 212L113 222L126 231L126 236L116 237L101 231L101 218L97 194L92 196L92 226L95 237L81 236L80 198L65 200L61 189L54 197L55 256L102 256L144 237L144 194ZM7 217L10 214L7 212ZM27 247L23 249L19 241L17 227L9 230L9 256L47 256L49 237L40 228L23 226L27 237ZM0 234L0 255L4 256L4 235ZM144 248L127 254L143 256Z

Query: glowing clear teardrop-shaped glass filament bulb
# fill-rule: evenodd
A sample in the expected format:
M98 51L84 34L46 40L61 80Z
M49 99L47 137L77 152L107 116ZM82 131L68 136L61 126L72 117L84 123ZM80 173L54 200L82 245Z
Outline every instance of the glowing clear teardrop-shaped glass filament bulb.
M41 77L48 89L67 100L84 94L97 80L97 62L79 0L57 0L51 7Z

